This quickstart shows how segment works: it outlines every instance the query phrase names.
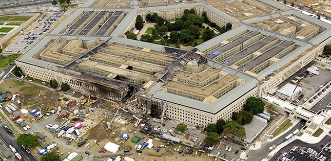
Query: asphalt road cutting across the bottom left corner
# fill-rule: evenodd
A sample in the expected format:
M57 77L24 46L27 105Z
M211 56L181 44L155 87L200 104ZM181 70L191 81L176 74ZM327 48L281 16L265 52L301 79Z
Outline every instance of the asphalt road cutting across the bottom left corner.
M1 140L4 142L5 145L12 145L18 153L21 154L23 157L22 160L32 160L32 161L37 161L36 158L31 153L27 153L21 146L18 147L16 144L16 137L13 134L10 134L7 132L7 130L4 127L0 128L0 136ZM11 152L11 151L10 151Z

